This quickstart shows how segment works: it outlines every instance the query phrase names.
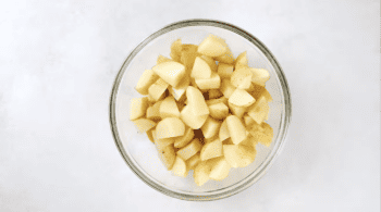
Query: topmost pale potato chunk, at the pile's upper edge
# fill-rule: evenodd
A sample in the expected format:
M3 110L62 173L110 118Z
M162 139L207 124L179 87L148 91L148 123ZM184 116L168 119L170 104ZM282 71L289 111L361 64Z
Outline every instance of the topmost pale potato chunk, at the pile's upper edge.
M228 52L228 46L223 39L214 35L209 35L198 46L197 51L208 57L219 57Z

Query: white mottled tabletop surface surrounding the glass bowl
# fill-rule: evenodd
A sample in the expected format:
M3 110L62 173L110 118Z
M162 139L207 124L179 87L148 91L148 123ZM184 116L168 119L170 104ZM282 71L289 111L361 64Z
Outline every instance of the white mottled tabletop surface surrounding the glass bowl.
M140 182L108 121L127 53L195 17L257 36L293 98L288 142L270 172L214 202ZM379 17L376 0L2 1L0 211L379 211Z

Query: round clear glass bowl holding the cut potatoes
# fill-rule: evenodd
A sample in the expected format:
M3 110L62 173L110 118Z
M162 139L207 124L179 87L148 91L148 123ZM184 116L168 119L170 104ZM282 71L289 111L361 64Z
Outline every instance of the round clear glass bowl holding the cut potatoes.
M142 73L156 64L159 54L169 57L171 43L200 43L209 34L226 40L234 57L247 51L249 66L262 67L271 78L266 87L273 98L268 123L274 129L271 147L257 145L254 163L231 169L222 182L209 180L196 186L193 171L185 178L174 176L161 164L155 145L146 134L138 134L128 119L130 100L142 97L135 89ZM270 169L285 142L291 121L291 96L281 66L256 37L232 24L211 20L187 20L170 24L139 43L127 57L115 78L110 98L110 124L119 151L131 170L147 185L183 200L217 200L235 195L259 180Z

